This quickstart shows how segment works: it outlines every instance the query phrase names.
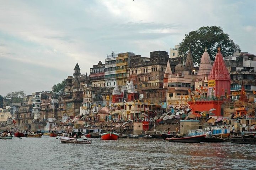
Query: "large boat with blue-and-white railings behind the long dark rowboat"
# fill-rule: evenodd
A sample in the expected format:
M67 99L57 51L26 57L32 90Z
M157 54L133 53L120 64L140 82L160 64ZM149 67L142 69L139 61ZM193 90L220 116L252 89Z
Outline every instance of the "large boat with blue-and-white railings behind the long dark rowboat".
M224 126L215 126L215 127L208 127L204 129L194 129L194 130L188 130L187 134L188 136L198 136L198 135L204 135L209 130L212 131L212 136L219 137L219 138L228 138L230 136L230 129L229 128L223 128Z

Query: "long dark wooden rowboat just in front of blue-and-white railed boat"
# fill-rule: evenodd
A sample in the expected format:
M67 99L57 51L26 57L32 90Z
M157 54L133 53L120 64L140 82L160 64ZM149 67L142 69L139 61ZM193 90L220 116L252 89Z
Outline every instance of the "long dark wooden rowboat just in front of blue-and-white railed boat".
M198 136L188 136L188 137L179 137L174 136L172 138L166 138L168 142L183 142L183 143L200 143L205 138L206 135Z

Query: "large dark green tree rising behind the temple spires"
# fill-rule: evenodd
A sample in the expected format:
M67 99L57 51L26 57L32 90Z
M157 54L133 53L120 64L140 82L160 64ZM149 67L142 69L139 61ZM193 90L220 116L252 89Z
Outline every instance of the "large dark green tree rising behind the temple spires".
M223 56L230 56L237 50L240 50L239 45L236 45L233 40L225 34L221 27L201 27L196 31L191 31L185 34L185 39L180 43L179 55L184 56L186 60L189 48L193 56L194 64L200 64L204 49L207 51L212 61L215 60L215 55L220 47Z

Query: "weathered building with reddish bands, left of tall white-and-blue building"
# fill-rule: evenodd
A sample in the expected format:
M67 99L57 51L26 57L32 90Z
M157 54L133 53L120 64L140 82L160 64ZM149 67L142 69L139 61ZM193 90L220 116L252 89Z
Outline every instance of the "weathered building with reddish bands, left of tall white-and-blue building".
M97 65L92 66L89 77L92 87L104 87L105 64L99 61Z

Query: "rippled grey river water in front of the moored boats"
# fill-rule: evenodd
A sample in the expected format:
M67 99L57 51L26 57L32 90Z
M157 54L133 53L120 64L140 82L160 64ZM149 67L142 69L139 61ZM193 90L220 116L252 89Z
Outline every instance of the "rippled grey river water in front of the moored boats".
M0 139L0 169L256 169L256 145L144 138L63 144L56 137L14 137Z

